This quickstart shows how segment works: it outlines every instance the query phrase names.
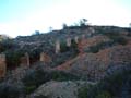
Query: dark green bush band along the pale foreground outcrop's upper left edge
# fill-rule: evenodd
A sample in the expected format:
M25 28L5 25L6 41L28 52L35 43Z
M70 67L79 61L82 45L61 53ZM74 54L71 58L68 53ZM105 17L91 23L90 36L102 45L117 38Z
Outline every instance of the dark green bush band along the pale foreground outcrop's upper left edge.
M78 76L74 76L69 73L52 71L46 72L43 68L27 71L25 77L22 79L25 85L25 93L31 94L41 84L49 81L69 81L69 79L79 79Z

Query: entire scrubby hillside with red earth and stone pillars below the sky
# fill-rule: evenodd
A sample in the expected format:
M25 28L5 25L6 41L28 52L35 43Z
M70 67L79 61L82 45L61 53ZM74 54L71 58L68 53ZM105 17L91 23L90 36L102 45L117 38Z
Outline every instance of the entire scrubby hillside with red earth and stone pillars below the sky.
M7 63L0 98L131 96L130 28L70 26L47 34L19 36L0 45Z

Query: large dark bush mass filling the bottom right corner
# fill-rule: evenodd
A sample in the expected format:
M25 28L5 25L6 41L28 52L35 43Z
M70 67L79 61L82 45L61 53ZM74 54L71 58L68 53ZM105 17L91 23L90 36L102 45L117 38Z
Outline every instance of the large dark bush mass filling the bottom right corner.
M129 96L131 93L131 79L129 78L131 78L130 69L120 72L116 71L114 74L106 76L99 83L92 86L87 91L87 98L121 98L120 96Z

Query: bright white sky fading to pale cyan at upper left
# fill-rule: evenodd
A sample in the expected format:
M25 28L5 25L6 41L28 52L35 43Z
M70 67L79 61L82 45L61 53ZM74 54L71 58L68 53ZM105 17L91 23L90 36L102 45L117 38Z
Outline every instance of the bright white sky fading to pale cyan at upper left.
M0 0L0 34L11 37L47 33L80 19L92 25L129 27L131 0Z

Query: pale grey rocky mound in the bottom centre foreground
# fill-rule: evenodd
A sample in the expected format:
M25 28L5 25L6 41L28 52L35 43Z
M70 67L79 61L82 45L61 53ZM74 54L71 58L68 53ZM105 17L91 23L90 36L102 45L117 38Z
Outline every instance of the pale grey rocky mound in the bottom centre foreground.
M38 96L47 96L47 98L78 98L78 89L84 85L94 85L90 82L48 82L41 85L35 93L27 96L27 98L37 98Z

